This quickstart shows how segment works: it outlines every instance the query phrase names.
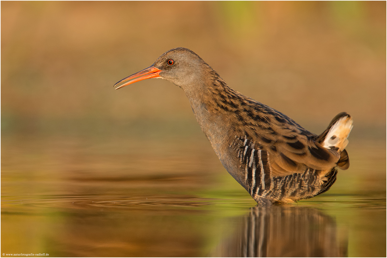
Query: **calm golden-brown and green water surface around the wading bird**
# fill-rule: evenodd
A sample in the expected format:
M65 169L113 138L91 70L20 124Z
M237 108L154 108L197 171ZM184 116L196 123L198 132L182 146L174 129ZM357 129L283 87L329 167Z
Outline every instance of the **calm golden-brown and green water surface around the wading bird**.
M203 135L2 135L2 253L385 256L385 142L348 152L326 193L262 208Z

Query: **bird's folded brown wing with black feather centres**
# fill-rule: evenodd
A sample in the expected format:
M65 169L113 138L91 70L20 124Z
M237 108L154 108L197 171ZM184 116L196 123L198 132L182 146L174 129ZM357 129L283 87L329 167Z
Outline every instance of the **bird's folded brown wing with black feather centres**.
M238 132L238 148L243 149L243 143L250 142L248 148L267 152L272 176L303 173L308 167L325 171L336 166L341 152L324 148L316 140L317 135L267 106L262 105L257 111L251 111L257 119L245 116L245 125L239 126L243 130Z

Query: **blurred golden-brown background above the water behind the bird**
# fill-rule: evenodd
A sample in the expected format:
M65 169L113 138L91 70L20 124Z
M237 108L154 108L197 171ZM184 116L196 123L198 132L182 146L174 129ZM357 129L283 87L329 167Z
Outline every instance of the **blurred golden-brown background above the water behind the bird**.
M112 88L182 46L233 89L314 133L346 111L354 118L353 136L385 137L385 5L2 2L2 133L95 130L97 121L194 124L173 84Z

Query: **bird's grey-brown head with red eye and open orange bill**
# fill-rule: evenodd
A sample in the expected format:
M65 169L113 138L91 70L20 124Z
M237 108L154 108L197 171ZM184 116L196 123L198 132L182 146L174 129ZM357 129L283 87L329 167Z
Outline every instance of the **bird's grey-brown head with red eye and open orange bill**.
M206 71L212 70L200 56L187 48L174 48L161 55L150 67L134 73L119 82L126 82L116 89L120 89L140 80L161 78L181 87L183 90L189 85L200 84L198 77L202 77Z

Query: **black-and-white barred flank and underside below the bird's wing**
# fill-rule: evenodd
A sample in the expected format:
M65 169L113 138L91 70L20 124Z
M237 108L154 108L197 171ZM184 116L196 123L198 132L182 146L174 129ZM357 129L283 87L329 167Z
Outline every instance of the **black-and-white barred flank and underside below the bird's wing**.
M327 191L336 181L336 167L324 179L320 178L320 171L311 168L303 173L272 176L269 153L246 136L235 137L230 147L237 150L240 167L245 171L247 190L257 202L265 197L278 201L310 198Z

